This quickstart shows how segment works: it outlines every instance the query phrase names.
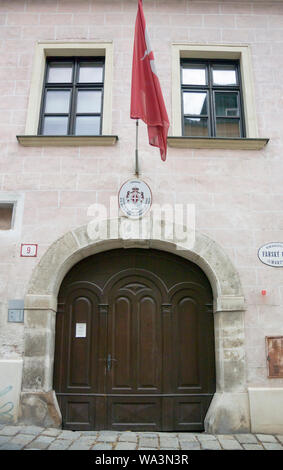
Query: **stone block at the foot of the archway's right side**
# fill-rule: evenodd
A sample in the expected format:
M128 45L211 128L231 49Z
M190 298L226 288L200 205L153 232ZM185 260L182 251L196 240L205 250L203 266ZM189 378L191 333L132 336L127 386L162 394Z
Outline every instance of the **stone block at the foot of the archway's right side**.
M250 432L249 400L246 392L215 393L204 421L211 434Z

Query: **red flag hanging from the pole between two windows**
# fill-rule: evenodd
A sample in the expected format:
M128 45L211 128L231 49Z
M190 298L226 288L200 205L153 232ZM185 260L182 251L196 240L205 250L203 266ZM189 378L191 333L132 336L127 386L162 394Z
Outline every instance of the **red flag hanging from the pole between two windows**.
M150 145L159 147L162 160L166 160L169 119L156 74L142 0L139 0L135 26L131 119L142 119L147 124Z

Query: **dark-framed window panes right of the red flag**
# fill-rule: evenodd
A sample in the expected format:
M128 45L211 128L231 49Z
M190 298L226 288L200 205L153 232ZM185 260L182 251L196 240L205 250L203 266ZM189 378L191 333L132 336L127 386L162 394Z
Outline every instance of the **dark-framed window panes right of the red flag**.
M245 137L239 61L181 60L182 132Z

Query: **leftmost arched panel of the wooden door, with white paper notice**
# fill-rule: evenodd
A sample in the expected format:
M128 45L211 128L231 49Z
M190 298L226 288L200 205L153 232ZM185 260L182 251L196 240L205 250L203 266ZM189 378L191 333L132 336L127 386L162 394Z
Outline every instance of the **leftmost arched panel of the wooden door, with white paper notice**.
M83 325L85 335L77 329ZM96 296L74 289L60 304L56 320L54 385L58 393L100 392L99 312ZM104 380L104 378L103 378Z

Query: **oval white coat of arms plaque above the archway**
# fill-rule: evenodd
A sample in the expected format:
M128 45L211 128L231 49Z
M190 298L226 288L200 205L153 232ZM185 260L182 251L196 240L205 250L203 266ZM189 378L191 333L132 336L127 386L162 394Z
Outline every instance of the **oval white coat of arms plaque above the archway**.
M152 203L150 187L139 179L126 181L119 191L118 199L120 209L132 219L145 215Z

